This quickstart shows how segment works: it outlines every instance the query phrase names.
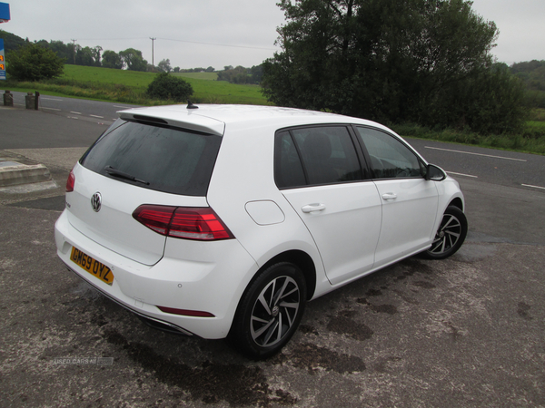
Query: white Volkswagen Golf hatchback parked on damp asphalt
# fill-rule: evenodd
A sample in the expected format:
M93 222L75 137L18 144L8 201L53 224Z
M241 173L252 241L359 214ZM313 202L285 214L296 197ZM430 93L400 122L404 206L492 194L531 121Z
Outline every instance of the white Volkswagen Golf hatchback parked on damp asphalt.
M85 152L58 256L149 322L279 351L305 303L467 233L458 183L372 121L295 109L139 108Z

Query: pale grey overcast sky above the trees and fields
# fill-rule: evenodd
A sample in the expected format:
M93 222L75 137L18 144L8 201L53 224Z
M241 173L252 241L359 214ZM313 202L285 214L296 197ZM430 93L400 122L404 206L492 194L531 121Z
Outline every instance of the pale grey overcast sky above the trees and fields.
M142 51L154 63L251 67L277 50L284 23L277 0L0 0L11 21L0 28L31 41L61 40L115 52ZM545 60L545 0L474 0L500 29L493 53L503 63Z

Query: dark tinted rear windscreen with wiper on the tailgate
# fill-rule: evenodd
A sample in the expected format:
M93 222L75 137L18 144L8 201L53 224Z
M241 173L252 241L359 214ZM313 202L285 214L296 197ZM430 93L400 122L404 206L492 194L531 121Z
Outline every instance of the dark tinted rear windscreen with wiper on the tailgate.
M106 177L145 189L205 196L221 141L215 135L117 121L80 163ZM139 181L115 177L106 168L114 168Z

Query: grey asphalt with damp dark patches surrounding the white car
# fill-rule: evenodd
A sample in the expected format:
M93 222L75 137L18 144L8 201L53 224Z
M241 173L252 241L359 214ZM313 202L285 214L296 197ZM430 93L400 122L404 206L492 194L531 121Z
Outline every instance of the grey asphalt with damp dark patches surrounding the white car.
M56 258L64 181L100 123L0 108L0 156L43 162L58 184L0 191L1 406L545 406L542 157L411 141L461 182L464 246L312 301L255 363L147 327Z

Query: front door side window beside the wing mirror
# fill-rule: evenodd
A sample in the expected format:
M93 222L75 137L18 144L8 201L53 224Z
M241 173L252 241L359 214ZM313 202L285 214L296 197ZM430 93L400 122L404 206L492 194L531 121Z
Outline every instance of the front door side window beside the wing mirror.
M393 136L370 128L357 128L371 158L375 179L422 177L421 161Z

